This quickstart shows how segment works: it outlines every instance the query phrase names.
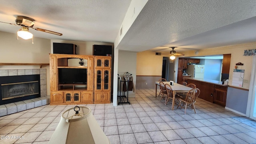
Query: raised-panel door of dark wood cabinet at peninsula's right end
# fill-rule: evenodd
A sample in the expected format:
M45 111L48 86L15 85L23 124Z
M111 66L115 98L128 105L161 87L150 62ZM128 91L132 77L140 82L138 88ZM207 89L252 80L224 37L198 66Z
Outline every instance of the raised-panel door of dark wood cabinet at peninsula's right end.
M213 98L214 102L220 104L221 106L226 106L227 91L215 88Z

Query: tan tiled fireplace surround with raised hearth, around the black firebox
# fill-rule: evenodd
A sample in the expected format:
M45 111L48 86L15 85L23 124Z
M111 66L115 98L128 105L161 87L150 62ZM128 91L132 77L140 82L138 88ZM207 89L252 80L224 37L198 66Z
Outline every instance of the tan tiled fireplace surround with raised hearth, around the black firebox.
M49 104L50 96L47 96L46 69L0 70L0 76L21 76L32 74L40 74L41 96L30 100L0 105L0 117Z

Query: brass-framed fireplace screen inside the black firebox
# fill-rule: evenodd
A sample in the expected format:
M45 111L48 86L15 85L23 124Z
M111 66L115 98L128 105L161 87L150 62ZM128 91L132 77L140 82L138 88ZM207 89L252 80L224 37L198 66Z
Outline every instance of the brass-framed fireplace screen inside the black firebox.
M1 84L2 100L39 94L39 81Z

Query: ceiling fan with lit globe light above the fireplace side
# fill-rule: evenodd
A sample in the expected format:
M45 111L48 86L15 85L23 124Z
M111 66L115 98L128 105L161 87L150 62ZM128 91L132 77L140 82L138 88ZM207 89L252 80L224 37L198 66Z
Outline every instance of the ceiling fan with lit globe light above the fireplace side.
M47 32L47 33L50 33L50 34L56 34L58 36L62 36L62 34L58 33L58 32L53 32L53 31L50 31L50 30L42 29L42 28L33 28L33 26L35 24L34 21L35 21L34 19L26 17L26 16L16 16L16 20L15 20L16 24L12 24L12 23L8 23L8 22L2 22L2 23L12 24L12 25L15 25L15 26L21 26L21 28L20 28L20 30L18 30L17 34L18 34L18 36L20 36L23 39L33 38L33 34L28 32L28 28L32 28L34 30L38 30L38 31L41 31L41 32ZM27 34L27 37L23 36L22 34ZM18 38L18 36L17 36L17 38Z

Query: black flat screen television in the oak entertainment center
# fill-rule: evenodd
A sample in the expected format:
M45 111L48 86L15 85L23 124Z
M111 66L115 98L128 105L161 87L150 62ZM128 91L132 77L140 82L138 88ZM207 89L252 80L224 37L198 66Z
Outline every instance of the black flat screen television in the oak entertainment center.
M59 84L87 84L86 68L58 68Z

